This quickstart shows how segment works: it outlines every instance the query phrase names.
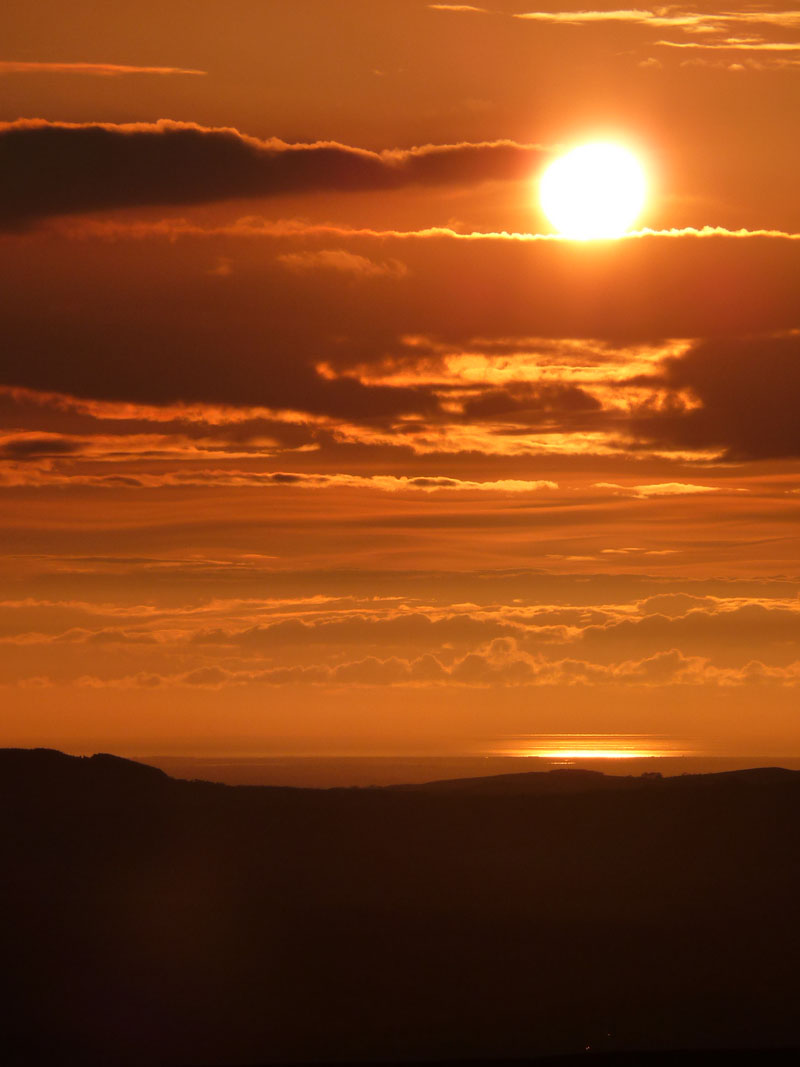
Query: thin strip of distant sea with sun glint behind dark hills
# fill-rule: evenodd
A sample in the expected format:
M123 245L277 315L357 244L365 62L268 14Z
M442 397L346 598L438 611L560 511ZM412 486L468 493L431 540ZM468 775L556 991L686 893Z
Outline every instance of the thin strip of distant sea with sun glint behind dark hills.
M519 755L131 755L173 778L228 785L293 785L315 789L399 785L447 778L513 775L558 767L581 767L607 775L698 775L746 767L800 770L800 757L653 755L625 759L564 759Z

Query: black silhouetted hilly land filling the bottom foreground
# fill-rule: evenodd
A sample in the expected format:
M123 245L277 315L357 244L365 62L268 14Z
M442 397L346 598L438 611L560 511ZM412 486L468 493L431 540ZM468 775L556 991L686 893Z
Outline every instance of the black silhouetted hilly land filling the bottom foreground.
M781 769L315 791L2 750L0 1061L800 1062L747 1052L800 1047L799 816Z

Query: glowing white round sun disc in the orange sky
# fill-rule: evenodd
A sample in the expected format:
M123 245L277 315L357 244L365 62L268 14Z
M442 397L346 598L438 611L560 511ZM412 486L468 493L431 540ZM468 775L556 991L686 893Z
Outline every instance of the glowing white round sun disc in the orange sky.
M644 206L646 181L636 156L618 144L573 148L542 175L539 196L548 221L578 241L621 237Z

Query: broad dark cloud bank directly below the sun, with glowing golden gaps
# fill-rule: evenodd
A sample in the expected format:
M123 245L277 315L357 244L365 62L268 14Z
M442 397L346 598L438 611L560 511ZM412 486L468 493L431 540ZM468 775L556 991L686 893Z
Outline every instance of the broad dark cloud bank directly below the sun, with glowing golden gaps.
M407 272L291 271L281 259L331 244L327 232L6 236L0 384L159 410L228 405L197 426L233 426L230 409L252 409L260 421L226 440L253 455L281 444L514 455L534 431L605 434L587 449L800 455L800 240L646 235L576 246L340 232L340 250L371 260L379 248ZM209 274L223 254L233 273ZM705 339L666 344L692 337ZM639 361L626 379L620 352L642 344L661 362ZM614 346L618 368L604 378ZM449 354L470 353L473 377L448 380ZM521 375L547 380L498 379L516 372L517 353ZM305 425L289 434L275 413Z

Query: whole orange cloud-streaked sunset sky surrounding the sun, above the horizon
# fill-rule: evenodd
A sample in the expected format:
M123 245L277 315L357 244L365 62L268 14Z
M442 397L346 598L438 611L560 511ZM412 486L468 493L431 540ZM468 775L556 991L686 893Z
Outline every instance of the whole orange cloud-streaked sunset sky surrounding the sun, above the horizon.
M800 754L798 115L782 3L5 0L0 742Z

